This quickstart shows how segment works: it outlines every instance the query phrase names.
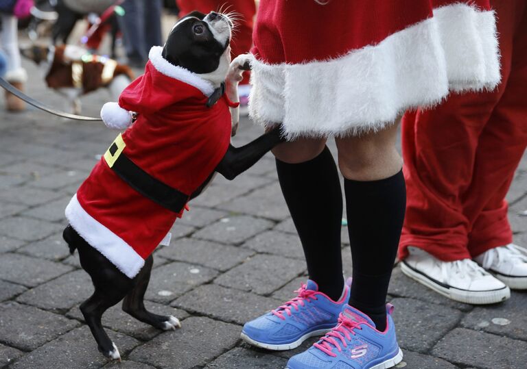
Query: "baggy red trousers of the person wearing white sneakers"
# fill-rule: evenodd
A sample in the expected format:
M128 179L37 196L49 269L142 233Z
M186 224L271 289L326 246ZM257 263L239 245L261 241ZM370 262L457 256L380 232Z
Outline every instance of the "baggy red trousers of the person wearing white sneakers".
M492 5L501 84L403 117L408 203L401 258L409 245L449 262L512 242L505 196L527 145L527 5Z

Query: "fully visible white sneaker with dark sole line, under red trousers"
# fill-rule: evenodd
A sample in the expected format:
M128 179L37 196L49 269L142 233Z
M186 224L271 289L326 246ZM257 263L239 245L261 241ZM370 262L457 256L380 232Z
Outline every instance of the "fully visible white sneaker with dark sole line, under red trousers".
M511 297L511 290L471 259L442 262L421 251L412 253L401 262L408 277L432 290L469 304L499 303Z

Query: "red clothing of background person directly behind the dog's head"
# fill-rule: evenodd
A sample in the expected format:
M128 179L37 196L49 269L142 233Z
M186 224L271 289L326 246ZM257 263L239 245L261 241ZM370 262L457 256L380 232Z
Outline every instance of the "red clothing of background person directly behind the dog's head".
M256 14L254 0L177 0L179 15L185 16L193 10L207 14L212 10L224 10L224 12L239 13L239 21L231 41L231 55L236 58L240 54L248 53L253 45L253 25ZM240 84L249 83L249 73L244 73L244 79Z

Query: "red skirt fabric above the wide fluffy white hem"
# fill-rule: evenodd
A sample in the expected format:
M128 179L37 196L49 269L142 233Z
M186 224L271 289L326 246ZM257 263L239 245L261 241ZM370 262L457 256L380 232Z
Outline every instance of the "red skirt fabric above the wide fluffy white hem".
M251 53L266 64L302 64L340 58L432 18L436 8L469 3L490 10L489 0L261 0Z

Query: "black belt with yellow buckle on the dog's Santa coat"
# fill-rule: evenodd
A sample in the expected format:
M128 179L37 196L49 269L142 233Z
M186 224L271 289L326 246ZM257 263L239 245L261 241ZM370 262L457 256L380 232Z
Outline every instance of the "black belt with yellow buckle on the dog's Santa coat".
M122 152L126 147L121 134L115 139L110 148L104 153L104 160L106 164L126 183L128 186L147 197L148 199L158 203L172 212L179 213L187 201L189 196L168 186L146 173L139 168L137 164L132 162Z

